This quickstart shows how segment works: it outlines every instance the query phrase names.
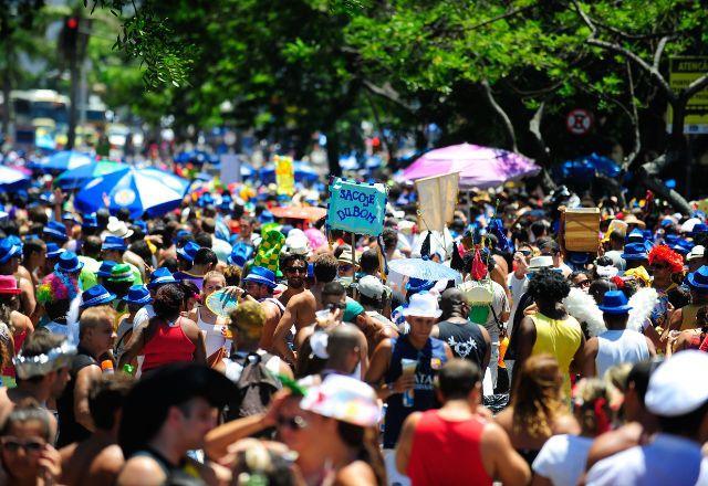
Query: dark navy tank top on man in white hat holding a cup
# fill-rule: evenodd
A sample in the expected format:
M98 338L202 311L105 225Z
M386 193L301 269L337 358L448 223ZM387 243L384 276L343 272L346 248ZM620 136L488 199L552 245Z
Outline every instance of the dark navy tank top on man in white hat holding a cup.
M400 377L403 369L400 360L416 359L416 384L414 387L413 406L403 406L403 393L395 393L386 399L386 424L384 427L384 448L393 448L398 442L403 422L413 412L437 409L439 403L435 397L434 379L442 364L447 362L445 342L436 338L428 338L423 349L418 350L408 341L407 336L393 338L392 356L386 383L393 383Z

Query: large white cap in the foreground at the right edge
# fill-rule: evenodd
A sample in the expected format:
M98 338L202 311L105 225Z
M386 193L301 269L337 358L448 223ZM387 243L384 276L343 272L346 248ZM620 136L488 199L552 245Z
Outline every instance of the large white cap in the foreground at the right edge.
M660 416L680 416L708 402L708 352L677 352L652 373L644 402Z

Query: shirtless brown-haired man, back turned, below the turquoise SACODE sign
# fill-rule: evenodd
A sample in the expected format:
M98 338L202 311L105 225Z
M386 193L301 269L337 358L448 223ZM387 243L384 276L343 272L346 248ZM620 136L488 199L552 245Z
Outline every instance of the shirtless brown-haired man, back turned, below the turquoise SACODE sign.
M325 284L334 281L337 267L339 262L331 253L317 255L314 261L314 285L310 289L293 296L288 306L285 306L285 311L273 334L273 349L285 361L295 362L295 355L287 342L288 331L293 325L295 326L295 331L299 331L315 321L314 313L324 308L322 305L322 288Z

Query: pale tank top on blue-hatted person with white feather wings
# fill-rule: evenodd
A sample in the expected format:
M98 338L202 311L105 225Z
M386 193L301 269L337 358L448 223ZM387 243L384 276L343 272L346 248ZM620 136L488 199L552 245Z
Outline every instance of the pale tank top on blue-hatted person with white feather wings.
M603 378L605 372L616 364L634 364L646 359L649 359L649 347L644 335L636 330L614 329L597 336L597 378Z

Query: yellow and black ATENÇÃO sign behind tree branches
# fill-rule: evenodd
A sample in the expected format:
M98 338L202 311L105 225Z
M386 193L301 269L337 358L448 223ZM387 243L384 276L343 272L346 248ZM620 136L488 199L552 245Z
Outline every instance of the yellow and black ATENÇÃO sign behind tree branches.
M677 56L669 60L668 83L674 91L681 91L695 80L708 73L708 57ZM671 130L674 113L668 108L666 130ZM684 134L708 134L708 89L696 93L686 104Z

